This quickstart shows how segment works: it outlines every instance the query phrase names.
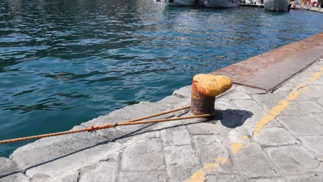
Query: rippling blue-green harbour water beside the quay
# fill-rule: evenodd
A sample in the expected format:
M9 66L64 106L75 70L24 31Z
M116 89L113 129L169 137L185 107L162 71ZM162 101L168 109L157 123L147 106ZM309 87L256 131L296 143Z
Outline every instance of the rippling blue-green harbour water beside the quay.
M322 14L155 0L0 1L0 139L68 130L322 31ZM0 145L8 156L25 143Z

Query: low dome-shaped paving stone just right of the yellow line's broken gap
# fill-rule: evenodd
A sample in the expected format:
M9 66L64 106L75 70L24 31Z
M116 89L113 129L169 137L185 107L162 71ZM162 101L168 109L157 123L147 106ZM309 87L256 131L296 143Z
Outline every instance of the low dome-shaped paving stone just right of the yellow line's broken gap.
M257 134L253 139L264 147L295 145L300 143L294 136L283 128L264 128L262 132Z

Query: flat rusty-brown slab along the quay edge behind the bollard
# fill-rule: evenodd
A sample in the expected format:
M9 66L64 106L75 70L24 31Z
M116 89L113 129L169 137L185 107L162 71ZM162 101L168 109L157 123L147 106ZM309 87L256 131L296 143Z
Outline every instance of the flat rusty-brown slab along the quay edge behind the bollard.
M323 57L323 32L211 72L270 92Z

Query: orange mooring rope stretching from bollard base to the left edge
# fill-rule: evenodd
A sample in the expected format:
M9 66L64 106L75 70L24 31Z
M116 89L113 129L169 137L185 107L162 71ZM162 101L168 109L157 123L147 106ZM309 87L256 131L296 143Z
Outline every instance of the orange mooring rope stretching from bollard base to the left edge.
M188 109L190 108L190 106L186 106L183 108L178 108L175 110L169 110L166 112L159 112L158 114L153 114L147 117L141 117L138 119L132 119L132 120L128 120L128 121L123 121L120 123L109 123L106 125L97 125L97 126L93 126L90 125L89 128L84 128L84 129L79 129L79 130L70 130L70 131L66 131L66 132L55 132L55 133L49 133L49 134L40 134L40 135L35 135L35 136L26 136L26 137L22 137L22 138L17 138L17 139L8 139L8 140L2 140L0 141L0 144L3 143L14 143L14 142L19 142L19 141L27 141L27 140L32 140L32 139L41 139L41 138L46 138L46 137L50 137L50 136L59 136L59 135L64 135L64 134L72 134L72 133L77 133L77 132L95 132L97 130L104 130L107 128L115 128L117 126L122 126L122 125L140 125L140 124L147 124L147 123L161 123L161 122L166 122L166 121L176 121L176 120L182 120L182 119L194 119L194 118L202 118L202 117L211 117L213 116L213 114L201 114L201 115L196 115L196 116L190 116L190 117L177 117L177 118L169 118L169 119L154 119L154 120L148 120L148 121L141 121L144 119L149 119L152 117L159 117L161 115L164 114L168 114L171 112L177 112L179 110L184 110L184 109Z

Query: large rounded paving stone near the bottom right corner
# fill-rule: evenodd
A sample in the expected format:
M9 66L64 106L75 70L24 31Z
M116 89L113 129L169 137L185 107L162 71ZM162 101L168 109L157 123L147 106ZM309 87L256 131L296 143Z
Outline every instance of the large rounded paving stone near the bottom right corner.
M268 156L282 174L306 174L317 168L320 163L309 155L304 148L298 146L284 146L269 148Z

